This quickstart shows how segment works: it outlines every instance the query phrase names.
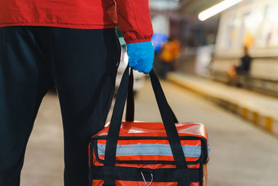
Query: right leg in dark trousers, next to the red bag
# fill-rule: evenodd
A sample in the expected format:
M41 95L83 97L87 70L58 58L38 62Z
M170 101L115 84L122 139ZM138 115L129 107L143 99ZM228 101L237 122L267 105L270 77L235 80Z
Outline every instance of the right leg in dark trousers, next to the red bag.
M65 138L65 186L88 186L88 144L104 127L115 89L115 29L49 28Z

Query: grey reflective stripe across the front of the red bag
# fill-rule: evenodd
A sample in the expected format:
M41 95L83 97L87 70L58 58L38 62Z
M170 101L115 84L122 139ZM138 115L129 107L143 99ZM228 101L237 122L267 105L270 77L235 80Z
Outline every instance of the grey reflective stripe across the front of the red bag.
M97 145L99 155L104 155L105 146ZM183 153L186 157L200 157L200 146L182 146ZM167 144L132 144L132 145L117 145L117 156L129 155L165 155L172 156L170 145Z

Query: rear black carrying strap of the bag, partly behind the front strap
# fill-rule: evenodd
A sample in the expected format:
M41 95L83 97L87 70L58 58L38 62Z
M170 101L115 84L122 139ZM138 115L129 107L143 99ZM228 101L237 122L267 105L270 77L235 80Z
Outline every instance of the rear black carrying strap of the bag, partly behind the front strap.
M130 76L129 76L129 92L127 93L127 99L126 99L126 121L134 121L133 82L134 82L133 70L131 68ZM170 107L170 110L172 112L172 116L174 117L174 123L179 123L179 121L177 120L177 117L174 115L174 112L172 111L171 107Z

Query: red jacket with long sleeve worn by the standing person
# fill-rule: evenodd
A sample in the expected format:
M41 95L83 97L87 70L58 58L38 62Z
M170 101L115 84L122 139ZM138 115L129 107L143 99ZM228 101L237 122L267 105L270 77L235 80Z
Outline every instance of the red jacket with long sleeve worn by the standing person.
M126 43L151 40L149 0L0 0L0 27L111 29L117 22Z

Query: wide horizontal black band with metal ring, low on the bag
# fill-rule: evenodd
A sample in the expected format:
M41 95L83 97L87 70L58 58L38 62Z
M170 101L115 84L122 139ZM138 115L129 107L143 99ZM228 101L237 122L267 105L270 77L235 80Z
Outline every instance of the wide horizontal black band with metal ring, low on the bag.
M179 182L201 183L199 176L200 169L140 169L136 167L115 166L116 180L143 181L141 171L144 173L147 182L151 181L151 173L154 182ZM92 171L94 180L104 180L104 166L94 166Z

